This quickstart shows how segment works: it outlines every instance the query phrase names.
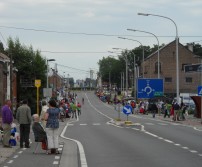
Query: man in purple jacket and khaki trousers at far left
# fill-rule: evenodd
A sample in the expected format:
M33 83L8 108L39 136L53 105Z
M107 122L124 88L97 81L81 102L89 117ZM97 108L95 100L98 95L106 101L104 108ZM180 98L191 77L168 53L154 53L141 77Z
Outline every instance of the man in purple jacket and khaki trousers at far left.
M11 100L6 100L5 105L2 107L2 127L3 127L3 145L4 147L11 148L9 144L11 136L11 123L13 122L13 113L10 109Z

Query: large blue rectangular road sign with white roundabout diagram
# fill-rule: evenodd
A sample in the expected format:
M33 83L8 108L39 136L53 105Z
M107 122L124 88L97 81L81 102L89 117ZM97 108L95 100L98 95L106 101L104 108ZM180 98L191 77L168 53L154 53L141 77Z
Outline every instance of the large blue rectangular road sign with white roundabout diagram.
M162 96L164 94L163 79L138 79L137 96L141 99Z

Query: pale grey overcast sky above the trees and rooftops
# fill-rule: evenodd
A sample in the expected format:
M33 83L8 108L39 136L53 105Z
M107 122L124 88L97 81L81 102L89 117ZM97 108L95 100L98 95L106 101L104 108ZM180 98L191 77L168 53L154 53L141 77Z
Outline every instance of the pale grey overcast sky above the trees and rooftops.
M50 65L57 63L60 74L85 79L90 69L98 71L98 61L112 48L139 46L118 36L157 44L153 36L127 29L151 32L160 44L175 39L170 20L138 12L169 17L177 25L180 43L202 44L201 0L0 0L0 40L6 48L6 39L17 37L55 59Z

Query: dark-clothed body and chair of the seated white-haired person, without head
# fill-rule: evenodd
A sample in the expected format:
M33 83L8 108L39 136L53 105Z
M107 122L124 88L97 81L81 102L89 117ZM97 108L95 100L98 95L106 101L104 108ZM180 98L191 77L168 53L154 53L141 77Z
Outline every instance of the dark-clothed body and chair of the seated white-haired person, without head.
M32 125L32 130L34 133L35 142L37 142L37 145L33 153L34 154L36 153L39 143L41 143L41 148L47 151L48 142L47 142L47 136L44 128L41 126L39 122L34 122Z

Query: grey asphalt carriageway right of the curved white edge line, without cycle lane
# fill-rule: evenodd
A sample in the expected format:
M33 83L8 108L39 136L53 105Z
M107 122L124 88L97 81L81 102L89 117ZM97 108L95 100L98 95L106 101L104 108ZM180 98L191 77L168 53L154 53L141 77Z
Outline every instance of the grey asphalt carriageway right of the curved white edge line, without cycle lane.
M88 167L201 166L201 132L139 115L129 120L142 126L115 126L109 123L118 115L112 106L93 93L79 97L85 97L82 115L68 125L65 136L82 144Z

